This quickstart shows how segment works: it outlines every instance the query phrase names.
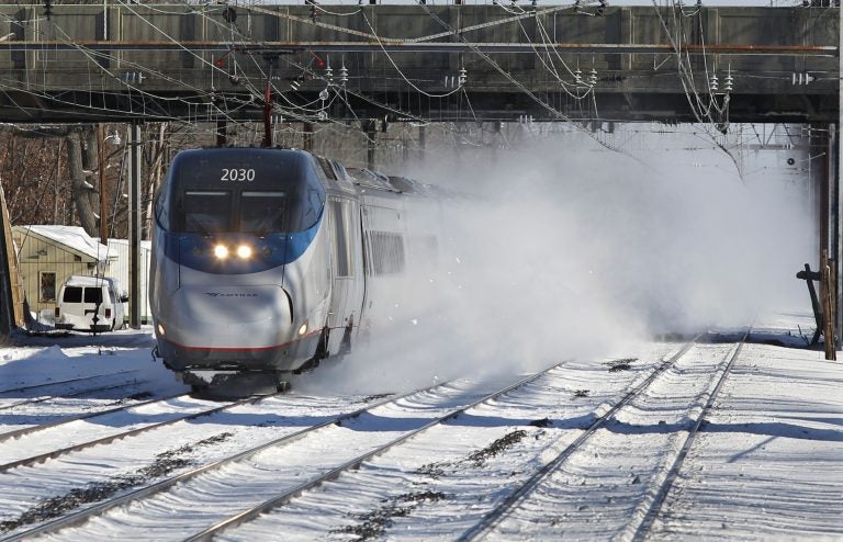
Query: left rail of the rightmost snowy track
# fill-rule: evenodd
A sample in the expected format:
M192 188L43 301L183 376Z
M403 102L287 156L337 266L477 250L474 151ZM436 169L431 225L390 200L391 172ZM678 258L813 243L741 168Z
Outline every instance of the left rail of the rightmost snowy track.
M621 408L627 406L632 399L638 397L641 392L649 387L656 377L664 373L667 369L672 368L679 358L685 355L688 350L699 340L702 334L697 335L687 345L685 345L678 352L673 354L667 360L663 361L659 366L653 370L647 379L630 389L618 403L616 403L606 413L599 416L597 419L588 426L580 437L574 439L567 444L555 458L546 463L540 470L530 476L518 489L510 493L504 498L501 504L490 510L475 526L464 531L457 541L465 542L471 540L477 540L480 537L487 534L497 524L498 520L507 516L517 504L521 503L548 475L559 467L559 465L571 456L580 447L600 429L609 419L611 419Z

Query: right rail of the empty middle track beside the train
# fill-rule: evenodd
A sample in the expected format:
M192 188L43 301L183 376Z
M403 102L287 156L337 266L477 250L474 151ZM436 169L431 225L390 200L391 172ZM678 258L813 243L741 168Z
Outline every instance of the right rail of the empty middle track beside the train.
M390 442L386 442L385 444L382 444L382 445L380 445L380 447L378 447L378 448L375 448L373 450L370 450L369 452L366 452L366 453L363 453L361 455L358 455L357 458L355 458L355 459L352 459L350 461L347 461L346 463L344 463L344 464L341 464L341 465L339 465L339 466L337 466L335 468L331 468L330 471L326 472L325 474L322 474L322 475L319 475L319 476L317 476L315 478L312 478L311 481L304 482L304 483L297 485L296 487L294 487L292 489L289 489L289 490L286 490L286 492L284 492L282 494L279 494L279 495L272 497L271 499L268 499L268 500L266 500L266 501L263 501L263 503L261 503L259 505L256 505L256 506L249 508L248 510L244 510L244 511L241 511L239 513L236 513L236 515L232 516L231 518L228 518L226 520L223 520L223 521L221 521L221 522L218 522L218 523L216 523L216 524L205 529L204 531L202 531L200 533L196 533L196 534L194 534L192 537L189 537L189 538L184 539L184 541L186 542L199 542L199 541L211 540L214 535L218 534L220 532L224 531L225 529L228 529L228 528L232 528L232 527L237 527L240 523L244 523L246 521L249 521L249 520L252 520L252 519L257 518L261 513L268 512L268 511L270 511L270 510L272 510L274 508L283 506L286 503L289 503L290 500L292 500L293 498L295 498L299 495L303 494L304 492L313 489L313 488L324 484L325 482L329 482L331 479L336 479L341 474L344 474L344 473L346 473L348 471L353 471L353 470L358 468L366 461L369 461L372 458L381 455L381 454L383 454L383 453L385 453L385 452L387 452L387 451L390 451L390 450L401 445L402 443L406 442L407 440L412 439L413 437L415 437L415 436L417 436L417 434L419 434L419 433L422 433L424 431L427 431L428 429L430 429L432 427L439 426L439 425L441 425L442 422L445 422L445 421L447 421L449 419L457 418L461 414L465 413L467 410L469 410L471 408L476 407L477 405L481 405L481 404L486 403L488 400L493 400L493 399L495 399L495 398L497 398L497 397L499 397L502 395L505 395L505 394L512 392L513 389L516 389L518 387L521 387L521 386L524 386L526 384L529 384L530 382L533 382L533 381L540 379L541 376L546 375L547 373L549 373L553 369L560 366L562 363L564 363L564 362L557 363L557 364L554 364L552 366L549 366L549 368L547 368L547 369L544 369L542 371L539 371L539 372L533 373L533 374L531 374L531 375L529 375L529 376L527 376L525 379L521 379L518 382L516 382L514 384L510 384L510 385L508 385L508 386L506 386L506 387L504 387L502 389L498 389L497 392L493 392L491 394L487 394L484 397L482 397L482 398L480 398L480 399L477 399L477 400L475 400L475 402L473 402L473 403L471 403L471 404L469 404L467 406L463 406L463 407L460 407L458 409L451 410L450 413L448 413L445 416L441 416L441 417L439 417L439 418L437 418L437 419L435 419L435 420L432 420L432 421L430 421L430 422L428 422L428 424L426 424L426 425L424 425L424 426L422 426L422 427L419 427L417 429L413 429L413 430L404 433L403 436L401 436L401 437L398 437L396 439L393 439Z

